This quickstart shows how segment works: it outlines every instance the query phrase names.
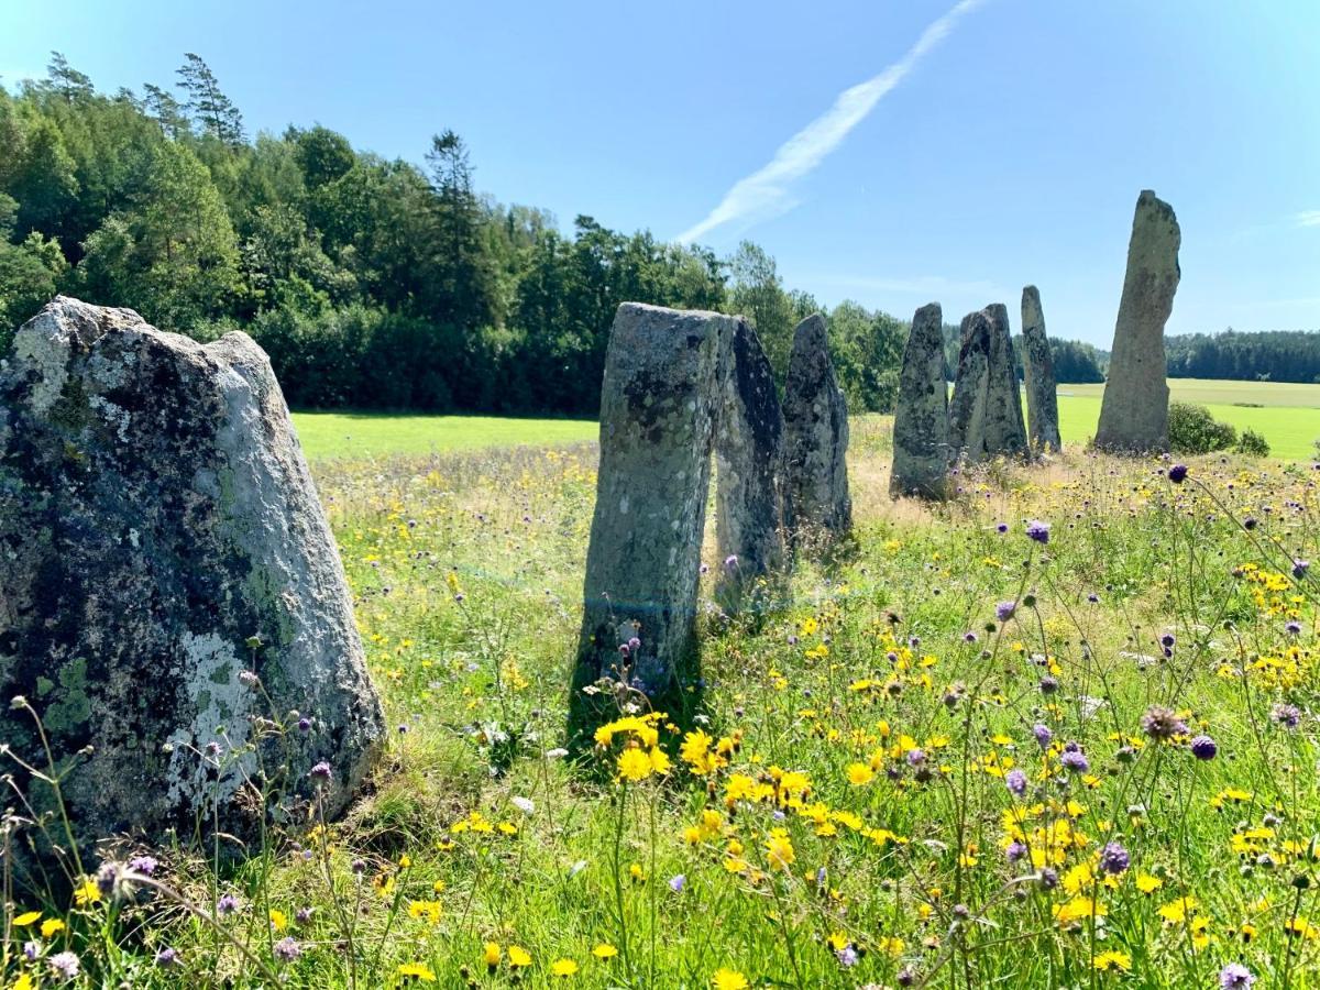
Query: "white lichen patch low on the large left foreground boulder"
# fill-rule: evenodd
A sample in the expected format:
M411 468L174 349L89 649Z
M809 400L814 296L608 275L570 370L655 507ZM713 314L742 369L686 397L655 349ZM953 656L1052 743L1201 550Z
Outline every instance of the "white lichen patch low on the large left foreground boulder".
M246 774L255 767L255 755L235 752L247 744L249 688L239 682L242 663L234 644L214 632L185 632L180 640L183 688L187 708L195 711L190 725L176 729L166 744L172 747L166 784L172 807L186 805L194 812L211 800L227 801ZM218 755L207 754L209 743L219 743ZM222 767L220 779L207 780Z

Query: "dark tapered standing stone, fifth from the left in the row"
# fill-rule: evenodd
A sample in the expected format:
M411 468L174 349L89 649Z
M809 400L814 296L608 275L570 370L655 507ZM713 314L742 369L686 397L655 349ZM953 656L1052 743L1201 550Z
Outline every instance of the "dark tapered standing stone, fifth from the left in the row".
M949 491L949 389L944 380L944 314L939 302L912 317L894 412L890 495L942 499Z

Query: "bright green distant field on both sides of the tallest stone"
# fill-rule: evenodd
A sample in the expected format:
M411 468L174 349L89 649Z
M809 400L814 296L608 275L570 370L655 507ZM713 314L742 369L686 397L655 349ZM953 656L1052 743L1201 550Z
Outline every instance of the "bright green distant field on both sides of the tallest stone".
M1172 378L1168 387L1175 401L1205 405L1217 420L1239 430L1259 432L1270 442L1271 457L1283 461L1315 457L1313 441L1320 438L1320 385ZM1085 444L1096 434L1104 391L1104 385L1059 387L1059 429L1065 444Z

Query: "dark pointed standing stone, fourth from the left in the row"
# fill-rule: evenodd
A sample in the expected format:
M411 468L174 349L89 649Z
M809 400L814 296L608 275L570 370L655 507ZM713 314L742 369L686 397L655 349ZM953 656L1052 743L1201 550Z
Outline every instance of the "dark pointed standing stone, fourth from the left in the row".
M787 515L795 531L841 536L853 528L847 491L847 404L829 359L825 317L793 331L784 384Z

